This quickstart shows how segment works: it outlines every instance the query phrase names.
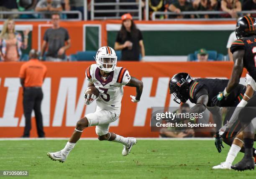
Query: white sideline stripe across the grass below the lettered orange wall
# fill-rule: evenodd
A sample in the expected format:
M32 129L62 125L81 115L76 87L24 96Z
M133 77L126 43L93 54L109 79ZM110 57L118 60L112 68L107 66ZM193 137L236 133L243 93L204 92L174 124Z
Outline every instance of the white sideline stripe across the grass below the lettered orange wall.
M154 141L213 141L215 138L136 138L137 140ZM0 141L44 141L44 140L69 140L69 138L0 138ZM97 138L80 138L79 140L98 140Z

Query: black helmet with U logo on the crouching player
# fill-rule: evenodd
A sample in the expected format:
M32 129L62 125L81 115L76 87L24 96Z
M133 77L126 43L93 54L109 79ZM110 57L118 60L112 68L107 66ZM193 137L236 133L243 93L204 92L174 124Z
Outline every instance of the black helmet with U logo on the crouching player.
M174 101L180 104L181 102L187 102L189 99L189 87L193 81L187 73L175 74L169 82L170 94L174 95ZM180 102L177 101L180 100Z

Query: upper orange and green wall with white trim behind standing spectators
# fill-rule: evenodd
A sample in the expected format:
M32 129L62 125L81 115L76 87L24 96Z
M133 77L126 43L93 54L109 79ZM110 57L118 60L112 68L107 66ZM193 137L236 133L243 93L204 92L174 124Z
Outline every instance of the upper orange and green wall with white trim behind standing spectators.
M198 48L207 48L210 50L217 50L221 53L226 53L225 45L228 40L228 36L231 31L235 28L235 21L232 20L224 20L224 21L135 21L139 28L143 31L143 35L145 36L144 43L146 49L146 55L187 55L188 53L193 53L193 51ZM3 22L2 22L3 23ZM0 22L0 25L2 24ZM67 50L67 55L75 54L77 51L83 51L87 48L85 46L90 46L90 44L86 44L86 42L92 41L92 44L95 44L95 40L87 39L87 36L92 34L87 34L85 32L85 26L90 27L98 27L99 32L91 32L96 33L97 36L96 41L98 42L98 46L93 46L93 50L97 50L99 46L113 46L115 41L116 31L119 30L119 26L121 24L120 20L103 20L103 21L61 21L61 26L67 28L69 31L70 39L72 46ZM16 25L27 25L33 26L33 30L31 33L32 39L31 47L33 49L38 49L41 46L44 32L47 28L51 26L50 22L16 22ZM161 36L161 39L157 37L152 38L150 31ZM168 33L169 31L176 33ZM184 36L184 39L181 39L180 33L186 31L187 36ZM192 33L196 33L198 38L192 36L189 31ZM158 32L158 33L157 33ZM163 32L163 33L161 33ZM202 32L202 33L201 33ZM217 32L217 33L216 33ZM222 33L223 32L223 33ZM168 37L162 37L164 34L170 34ZM208 36L209 39L205 39L205 34L211 34ZM156 35L155 34L155 35ZM162 34L162 35L161 35ZM173 34L173 35L172 35ZM200 38L200 36L204 39ZM147 38L148 37L148 38ZM211 37L211 38L210 38ZM179 38L177 40L176 38ZM192 38L193 46L187 43L189 38ZM155 41L155 42L152 42ZM211 41L211 43L209 43ZM155 48L154 44L159 43L159 48ZM197 45L195 45L197 44ZM201 46L200 46L201 44ZM178 46L178 47L177 47ZM180 48L183 46L182 48ZM168 48L171 50L167 50ZM221 48L219 48L221 47ZM177 48L177 49L176 49ZM40 48L39 48L40 49ZM90 49L90 48L89 48ZM155 50L154 50L155 49ZM157 51L156 51L157 49ZM184 54L182 52L184 51ZM161 53L161 54L154 54ZM169 54L172 52L172 54ZM166 53L166 54L164 54ZM177 54L175 54L177 53Z

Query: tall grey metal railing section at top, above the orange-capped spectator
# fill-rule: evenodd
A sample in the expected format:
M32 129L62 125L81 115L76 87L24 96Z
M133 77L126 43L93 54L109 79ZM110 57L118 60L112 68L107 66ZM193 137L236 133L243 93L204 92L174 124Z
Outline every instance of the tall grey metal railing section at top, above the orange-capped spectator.
M115 9L100 9L95 10L95 7L102 6L115 6ZM120 9L120 6L134 6L137 9ZM86 7L86 6L84 6ZM115 13L115 16L104 16L100 14L109 14ZM91 20L102 20L102 19L120 19L121 13L137 13L138 15L133 15L134 19L142 20L142 8L141 8L141 0L136 2L127 2L127 3L95 3L95 0L91 1ZM97 14L97 17L95 17Z

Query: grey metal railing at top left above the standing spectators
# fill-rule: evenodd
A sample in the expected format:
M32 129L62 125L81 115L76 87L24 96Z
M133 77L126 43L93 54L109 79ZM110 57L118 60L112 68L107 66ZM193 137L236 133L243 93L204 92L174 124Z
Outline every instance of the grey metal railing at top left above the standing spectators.
M38 17L35 17L35 18L26 18L26 21L46 21L46 20L49 20L49 19L46 19L46 18L40 18L41 14L46 14L46 13L47 14L53 14L53 13L56 13L56 12L0 11L0 14L3 14L3 15L35 15L35 16L38 16ZM67 14L77 14L78 15L78 18L66 18L65 20L68 20L68 21L82 20L82 13L78 10L61 11L61 12L57 12L57 13L59 13L61 15L67 15ZM7 18L3 18L3 19L0 19L0 21L4 21L6 19ZM24 18L19 18L19 17L15 18L15 21L24 21Z

